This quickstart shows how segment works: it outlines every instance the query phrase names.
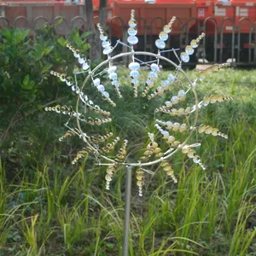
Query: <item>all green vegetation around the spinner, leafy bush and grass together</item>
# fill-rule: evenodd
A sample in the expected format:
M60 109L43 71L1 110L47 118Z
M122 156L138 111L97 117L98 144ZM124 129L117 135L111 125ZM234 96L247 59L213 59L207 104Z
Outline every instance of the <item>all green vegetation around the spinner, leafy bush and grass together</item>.
M1 32L0 255L121 255L124 173L108 192L103 167L90 160L72 166L83 145L59 143L65 119L43 110L52 102L72 103L72 93L49 70L72 73L77 67L64 46L69 41L87 53L86 34L81 39L74 32L66 40L46 27L36 39L28 35ZM127 74L119 72L121 78ZM229 140L200 138L206 171L175 155L177 185L154 170L139 198L133 183L130 255L256 255L255 84L256 71L229 69L199 85L201 97L235 96L205 108L200 117L226 131ZM123 79L120 90L129 86ZM137 124L127 129L131 141L148 111L141 106L131 113L138 107L126 102L116 110L125 125Z

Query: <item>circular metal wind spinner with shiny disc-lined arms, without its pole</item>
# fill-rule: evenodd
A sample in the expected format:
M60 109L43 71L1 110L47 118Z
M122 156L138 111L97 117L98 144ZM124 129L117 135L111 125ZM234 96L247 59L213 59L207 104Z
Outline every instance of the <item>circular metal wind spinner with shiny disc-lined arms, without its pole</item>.
M83 158L87 154L94 155L98 165L107 166L106 189L110 189L110 182L113 178L113 174L118 171L120 166L132 166L134 167L134 170L136 169L137 186L140 196L143 195L144 172L147 172L147 170L144 169L145 166L159 164L160 167L166 172L166 175L171 177L174 183L177 183L177 178L174 175L170 162L170 157L177 153L177 151L181 151L183 154L187 154L187 156L191 158L196 164L201 166L202 169L205 169L205 166L201 163L200 157L195 153L195 147L198 147L201 144L188 144L192 133L206 133L212 134L212 136L227 138L227 135L218 131L218 128L214 128L207 124L201 124L198 126L196 123L198 111L200 108L206 107L209 103L224 102L226 100L230 100L231 97L207 96L204 97L201 102L199 102L195 92L195 87L196 84L203 81L203 79L205 79L209 73L218 71L220 68L227 67L229 65L217 64L209 67L205 71L199 73L198 78L192 82L189 79L189 76L183 71L182 63L189 62L189 56L194 54L195 49L198 47L201 39L204 38L205 34L202 33L198 38L192 40L179 56L177 54L179 49L163 50L166 48L168 34L172 32L172 24L175 20L176 17L173 17L169 24L163 27L163 31L159 34L159 39L155 41L155 46L158 48L158 53L154 54L151 52L137 52L133 49L133 45L138 43L137 21L135 19L135 11L131 10L131 20L129 20L128 29L129 37L127 38L129 45L119 40L117 44L112 47L108 39L108 35L103 31L102 26L100 24L97 25L100 31L100 39L102 40L103 55L107 55L107 60L102 61L102 63L100 63L94 69L90 69L90 61L86 59L85 55L83 55L79 49L74 49L72 45L67 44L67 48L73 51L74 57L76 57L79 63L82 65L84 71L79 73L88 73L88 76L84 80L82 86L79 87L77 82L77 75L79 75L79 73L74 73L73 79L73 77L67 76L64 73L56 73L51 71L51 74L57 76L59 79L61 79L62 82L66 83L67 86L71 87L71 89L78 95L78 101L75 110L73 110L72 107L60 105L55 107L48 107L45 108L45 110L67 114L70 117L66 124L69 131L67 131L67 133L60 138L60 141L72 136L79 136L79 138L84 141L85 147L83 150L79 151L76 158L73 160L73 164L75 164L79 159ZM118 44L125 45L128 49L130 49L130 51L121 53L119 55L113 55L113 51ZM166 51L172 51L173 54L176 55L179 62L178 65L163 56L163 53ZM116 91L116 96L118 98L123 98L125 101L125 96L122 96L121 94L122 89L121 84L119 83L117 67L113 64L113 61L117 61L119 58L125 55L131 56L129 69L131 70L130 77L134 98L147 97L149 102L153 101L156 96L161 96L165 94L166 91L172 90L173 85L179 81L179 75L183 75L185 79L187 79L187 87L185 90L178 90L176 93L174 93L170 101L165 102L163 106L155 109L155 113L161 115L162 119L167 120L155 119L155 131L151 133L148 132L148 144L146 145L146 148L144 148L145 150L143 152L143 156L133 163L126 160L127 146L129 143L126 138L115 137L111 142L109 142L110 138L113 137L113 132L98 136L90 136L90 134L84 132L84 127L88 127L87 125L104 125L112 121L110 111L104 110L102 107L92 102L88 96L84 95L84 86L92 85L92 87L95 88L94 90L97 90L102 95L102 99L108 102L111 107L118 107L113 100L115 96L110 96L108 93L108 86L103 85L101 79L98 78L98 76L103 73L108 73L108 79L110 79L111 84ZM139 55L148 55L151 56L154 60L142 61L139 59ZM159 79L160 61L166 61L170 63L172 67L175 67L175 71L171 72L165 80ZM148 72L148 79L146 79L146 81L139 79L139 70L142 66L148 66L150 68L150 71ZM102 69L102 67L104 67L103 72L102 70L99 72L100 68ZM144 83L144 87L140 86ZM194 94L194 105L182 108L174 108L179 104L183 106L185 105L186 96L189 92ZM96 118L90 117L90 113L92 112L97 113L98 116ZM194 122L193 125L190 125L189 119L192 116ZM68 123L71 118L77 119L77 127L69 127ZM175 121L178 118L182 118L186 122L180 123ZM156 141L156 135L159 134L159 132L162 139L168 146L165 152L163 152L160 148L162 142L159 143ZM188 137L183 142L180 142L174 136L177 132L187 132ZM121 145L119 146L119 144ZM118 154L113 157L111 155L113 154L113 149L115 147L119 147L119 151Z

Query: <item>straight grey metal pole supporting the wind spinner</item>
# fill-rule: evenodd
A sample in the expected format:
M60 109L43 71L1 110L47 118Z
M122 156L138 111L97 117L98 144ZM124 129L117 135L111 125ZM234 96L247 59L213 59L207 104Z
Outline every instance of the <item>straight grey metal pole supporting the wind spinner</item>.
M131 166L125 166L125 220L123 238L123 256L129 255L129 231L131 212Z

